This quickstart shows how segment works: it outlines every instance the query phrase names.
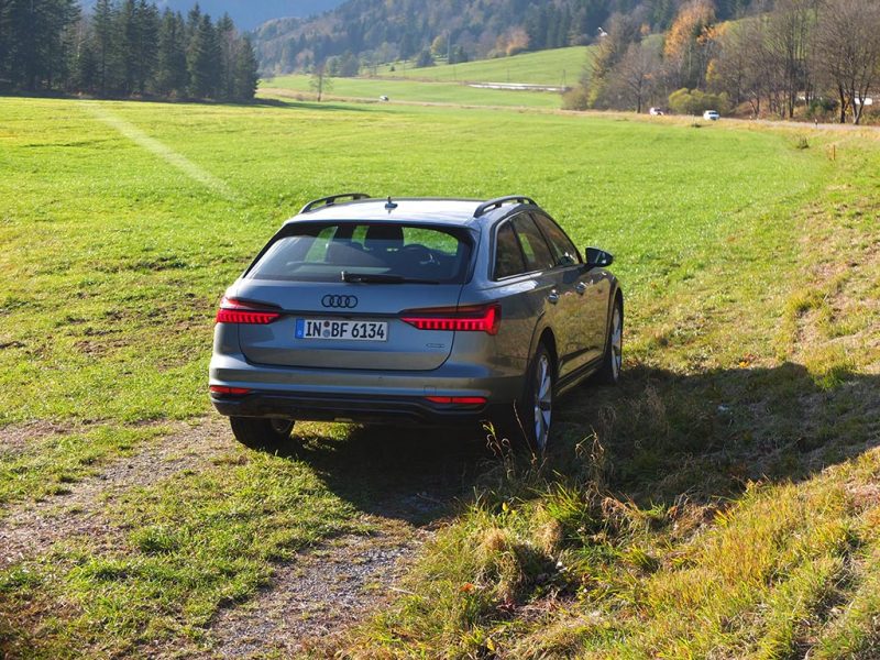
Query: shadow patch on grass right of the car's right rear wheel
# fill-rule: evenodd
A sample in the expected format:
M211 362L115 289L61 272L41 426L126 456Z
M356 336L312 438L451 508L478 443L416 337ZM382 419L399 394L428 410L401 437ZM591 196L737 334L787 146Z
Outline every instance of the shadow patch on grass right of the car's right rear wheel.
M584 389L560 407L551 465L640 506L801 481L880 444L879 386L873 375L794 363L690 375L637 366L620 387ZM587 459L574 451L584 439L601 447Z

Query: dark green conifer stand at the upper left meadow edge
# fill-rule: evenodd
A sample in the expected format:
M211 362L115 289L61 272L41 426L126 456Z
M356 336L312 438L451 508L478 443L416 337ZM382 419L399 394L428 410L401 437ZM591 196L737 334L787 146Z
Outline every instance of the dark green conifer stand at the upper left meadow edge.
M0 0L0 89L244 101L257 62L229 15L146 0Z

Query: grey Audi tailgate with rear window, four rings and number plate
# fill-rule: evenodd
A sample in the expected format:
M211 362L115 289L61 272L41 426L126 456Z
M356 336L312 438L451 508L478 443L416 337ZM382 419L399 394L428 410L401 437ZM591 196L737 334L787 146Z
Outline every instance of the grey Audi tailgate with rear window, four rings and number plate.
M288 226L289 227L289 226ZM473 238L400 223L300 223L276 238L234 297L282 318L241 326L254 363L310 369L427 371L449 358L454 331L419 330L411 309L455 307Z

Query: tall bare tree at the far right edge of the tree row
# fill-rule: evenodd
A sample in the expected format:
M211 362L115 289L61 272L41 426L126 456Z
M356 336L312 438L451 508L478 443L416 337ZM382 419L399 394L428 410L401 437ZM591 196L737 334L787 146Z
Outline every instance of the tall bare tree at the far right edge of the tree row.
M880 80L880 3L827 0L816 28L814 66L834 88L840 123L861 122L868 92Z

